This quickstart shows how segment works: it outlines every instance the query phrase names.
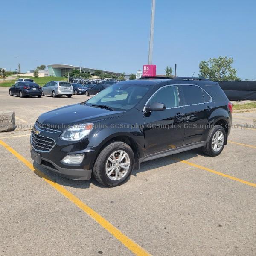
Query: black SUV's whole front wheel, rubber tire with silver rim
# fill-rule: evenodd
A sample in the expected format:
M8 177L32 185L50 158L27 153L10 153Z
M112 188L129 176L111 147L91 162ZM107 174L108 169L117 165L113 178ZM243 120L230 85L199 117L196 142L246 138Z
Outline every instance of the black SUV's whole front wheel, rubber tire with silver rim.
M121 154L123 156L125 153L125 157L121 161L121 164L127 163L125 166L126 168L120 167L119 163L116 163L117 161L114 163L112 162L112 159L114 159L112 157L113 153L115 153L114 154L115 160L118 160L117 157L120 157ZM109 161L109 158L111 157L112 159L111 161ZM129 166L128 166L128 163L129 163ZM113 166L117 166L117 168L120 168L120 171L116 171L114 169L115 167ZM105 148L102 149L102 151L99 153L93 166L93 175L95 179L102 185L107 187L114 187L114 186L118 186L120 184L125 183L129 179L129 177L131 176L133 166L134 166L134 153L131 147L128 144L123 143L121 141L114 141L112 143L107 144ZM107 168L110 169L111 167L113 167L109 171L111 175L109 175L108 177L106 170ZM114 180L116 177L116 172L117 172L117 180ZM119 176L119 174L121 175L121 177Z

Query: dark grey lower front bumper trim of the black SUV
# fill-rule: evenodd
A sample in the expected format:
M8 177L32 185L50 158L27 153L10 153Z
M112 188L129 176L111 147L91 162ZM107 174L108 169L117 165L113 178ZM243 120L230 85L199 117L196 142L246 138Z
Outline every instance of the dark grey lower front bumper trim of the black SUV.
M39 152L36 152L34 149L31 149L30 153L32 160L62 177L66 177L72 180L90 180L91 178L92 170L63 168L58 166L53 161L41 157L41 154Z

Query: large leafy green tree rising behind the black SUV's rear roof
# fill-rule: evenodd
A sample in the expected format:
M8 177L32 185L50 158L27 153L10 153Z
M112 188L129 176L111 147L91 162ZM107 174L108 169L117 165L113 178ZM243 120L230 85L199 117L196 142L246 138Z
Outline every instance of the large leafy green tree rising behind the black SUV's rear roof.
M212 81L239 81L241 79L236 76L236 69L231 66L233 61L233 58L227 56L201 61L198 76Z

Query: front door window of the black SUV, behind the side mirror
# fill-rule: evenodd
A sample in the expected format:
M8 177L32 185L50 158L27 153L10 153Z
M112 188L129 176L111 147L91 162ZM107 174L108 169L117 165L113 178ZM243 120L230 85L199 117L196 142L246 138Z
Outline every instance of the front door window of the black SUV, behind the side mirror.
M153 102L160 102L166 105L166 108L179 106L179 96L177 86L168 86L160 89L148 102L149 105Z

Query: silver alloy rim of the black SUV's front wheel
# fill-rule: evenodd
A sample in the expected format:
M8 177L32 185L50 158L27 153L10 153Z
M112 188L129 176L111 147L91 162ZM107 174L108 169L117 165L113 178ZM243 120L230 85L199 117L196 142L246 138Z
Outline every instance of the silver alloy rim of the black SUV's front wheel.
M113 152L107 160L105 172L111 180L121 180L130 168L130 157L123 150Z

